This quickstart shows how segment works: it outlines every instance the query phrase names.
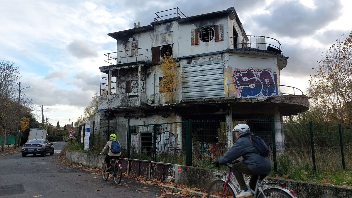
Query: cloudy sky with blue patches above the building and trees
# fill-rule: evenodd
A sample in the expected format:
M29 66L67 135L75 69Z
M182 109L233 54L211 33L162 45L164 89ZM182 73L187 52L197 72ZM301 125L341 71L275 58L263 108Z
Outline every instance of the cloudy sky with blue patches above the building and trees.
M304 90L322 52L352 31L350 0L0 0L0 59L20 68L23 98L53 125L76 121L100 89L98 67L115 51L107 33L147 25L154 12L179 7L187 16L234 7L247 35L282 44L288 65L281 85ZM27 99L28 98L28 99ZM39 111L38 111L39 110Z

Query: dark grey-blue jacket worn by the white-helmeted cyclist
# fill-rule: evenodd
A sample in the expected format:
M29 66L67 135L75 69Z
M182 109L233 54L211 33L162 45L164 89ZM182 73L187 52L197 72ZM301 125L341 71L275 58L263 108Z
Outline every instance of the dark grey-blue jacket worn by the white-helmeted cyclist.
M219 164L230 163L242 156L242 162L246 163L251 171L258 174L269 174L271 172L270 159L259 155L257 148L249 140L251 135L253 135L251 131L241 134L233 146L218 159Z

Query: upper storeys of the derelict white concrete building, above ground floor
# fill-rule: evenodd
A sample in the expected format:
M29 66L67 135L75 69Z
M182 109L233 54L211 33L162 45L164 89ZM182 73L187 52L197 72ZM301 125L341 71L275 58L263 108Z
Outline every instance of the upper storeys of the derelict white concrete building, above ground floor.
M280 84L288 58L281 44L246 35L233 7L191 17L175 8L155 13L148 25L108 35L116 39L117 51L105 54L107 64L99 67L101 93L94 117L103 135L109 133L109 122L110 127L116 123L113 132L126 137L128 119L130 125L282 119L308 110L307 96ZM176 59L182 78L171 99L159 91L165 52ZM227 133L231 129L228 124ZM282 132L280 126L276 132Z

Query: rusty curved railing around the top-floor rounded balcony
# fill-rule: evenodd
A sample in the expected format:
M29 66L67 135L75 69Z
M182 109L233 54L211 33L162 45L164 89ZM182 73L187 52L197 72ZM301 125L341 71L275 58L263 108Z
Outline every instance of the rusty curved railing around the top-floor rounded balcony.
M249 41L245 42L245 37L249 38ZM264 47L265 45L265 49L266 50L270 50L271 48L274 48L276 50L276 52L279 52L279 54L282 54L281 52L281 43L276 40L275 38L271 38L271 37L267 37L267 36L255 36L255 35L243 35L243 36L233 36L230 37L234 39L234 48L252 48L252 49L258 49L260 47ZM242 38L241 41L242 42L238 42L240 39L237 38ZM264 38L265 42L257 42L258 38ZM253 42L253 39L254 42ZM268 42L267 42L268 39ZM235 42L236 41L236 42ZM254 47L252 44L256 44L256 46Z

